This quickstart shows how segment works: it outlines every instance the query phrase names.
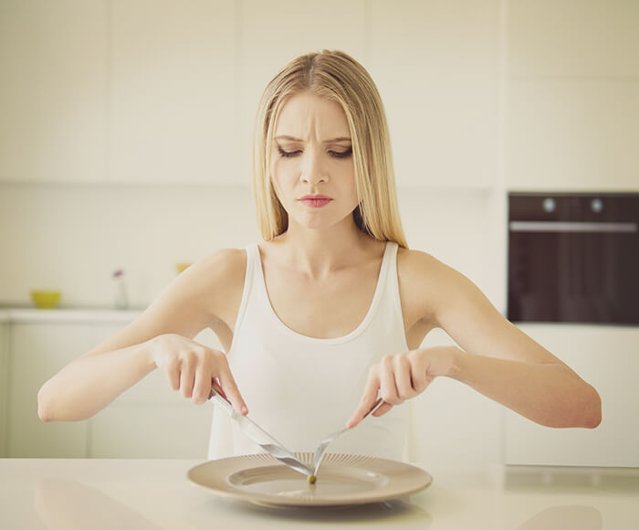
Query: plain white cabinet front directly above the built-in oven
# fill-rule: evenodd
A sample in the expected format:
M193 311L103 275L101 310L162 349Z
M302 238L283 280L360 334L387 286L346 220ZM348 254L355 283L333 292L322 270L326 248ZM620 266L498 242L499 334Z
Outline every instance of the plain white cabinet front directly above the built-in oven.
M637 2L508 2L508 188L639 190L637 20Z

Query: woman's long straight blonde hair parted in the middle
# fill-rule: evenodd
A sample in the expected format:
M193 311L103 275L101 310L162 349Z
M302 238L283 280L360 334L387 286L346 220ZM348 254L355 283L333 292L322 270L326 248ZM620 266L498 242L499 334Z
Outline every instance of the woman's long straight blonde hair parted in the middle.
M278 71L262 94L253 141L253 193L262 237L276 238L288 228L288 213L269 174L271 145L278 112L288 97L301 92L336 101L346 114L360 199L352 214L357 227L372 238L395 241L407 248L382 98L366 69L337 50L294 58Z

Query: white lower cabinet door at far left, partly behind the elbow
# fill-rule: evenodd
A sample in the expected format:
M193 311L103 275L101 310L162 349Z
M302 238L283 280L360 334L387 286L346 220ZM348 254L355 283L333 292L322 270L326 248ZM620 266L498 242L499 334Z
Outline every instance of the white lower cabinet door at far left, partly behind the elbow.
M16 458L86 456L87 422L43 423L37 391L71 360L89 350L87 328L68 323L14 323L8 385L7 454Z

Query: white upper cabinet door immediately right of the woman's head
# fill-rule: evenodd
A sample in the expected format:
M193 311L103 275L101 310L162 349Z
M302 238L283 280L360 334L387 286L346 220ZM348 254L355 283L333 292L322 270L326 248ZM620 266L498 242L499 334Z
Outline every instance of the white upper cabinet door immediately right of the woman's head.
M367 6L365 66L388 114L397 184L497 185L500 2Z

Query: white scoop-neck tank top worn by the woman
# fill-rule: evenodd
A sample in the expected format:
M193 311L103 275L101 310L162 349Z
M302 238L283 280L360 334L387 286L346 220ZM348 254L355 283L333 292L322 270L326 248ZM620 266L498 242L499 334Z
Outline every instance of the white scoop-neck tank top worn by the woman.
M279 320L267 295L257 244L246 247L246 278L228 362L248 417L290 451L315 451L345 426L370 366L408 350L397 281L397 243L388 242L371 306L351 333L321 339ZM330 452L406 459L408 408L366 419L330 444ZM215 410L209 459L263 452Z

